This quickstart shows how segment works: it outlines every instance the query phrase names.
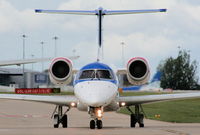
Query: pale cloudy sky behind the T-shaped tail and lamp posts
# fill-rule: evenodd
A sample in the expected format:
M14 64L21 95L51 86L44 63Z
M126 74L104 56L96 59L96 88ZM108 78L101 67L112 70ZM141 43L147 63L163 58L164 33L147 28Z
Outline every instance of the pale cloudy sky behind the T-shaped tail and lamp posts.
M0 61L25 57L54 57L57 36L57 57L79 55L74 67L80 68L97 58L97 17L79 15L36 14L34 9L95 10L160 9L167 13L105 16L103 20L103 61L123 68L125 61L144 57L152 74L161 60L176 57L180 49L200 62L200 1L197 0L0 0ZM74 51L75 50L75 51ZM199 64L198 64L199 66ZM26 65L31 69L32 65ZM49 62L45 63L45 68ZM17 67L21 68L21 67ZM41 63L33 65L41 71Z

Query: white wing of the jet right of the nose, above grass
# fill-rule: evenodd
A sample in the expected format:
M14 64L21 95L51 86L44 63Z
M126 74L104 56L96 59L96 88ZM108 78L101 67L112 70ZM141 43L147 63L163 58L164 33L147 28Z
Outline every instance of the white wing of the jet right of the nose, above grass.
M124 96L118 97L117 101L124 102L126 106L145 104L159 101L169 101L178 99L200 98L200 92L194 93L179 93L179 94L161 94L147 96Z

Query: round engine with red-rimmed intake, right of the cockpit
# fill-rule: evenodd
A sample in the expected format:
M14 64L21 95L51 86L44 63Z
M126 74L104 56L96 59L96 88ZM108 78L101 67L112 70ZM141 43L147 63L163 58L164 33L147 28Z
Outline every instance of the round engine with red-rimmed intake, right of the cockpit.
M147 61L142 57L135 57L127 64L127 78L133 85L143 85L149 81L150 71Z

